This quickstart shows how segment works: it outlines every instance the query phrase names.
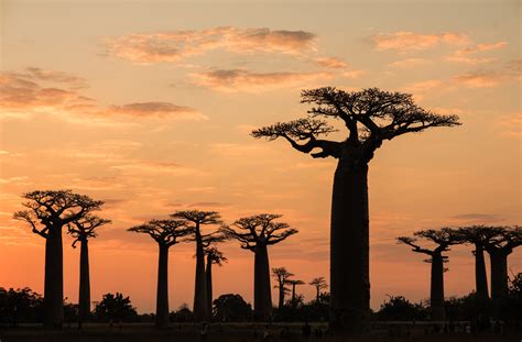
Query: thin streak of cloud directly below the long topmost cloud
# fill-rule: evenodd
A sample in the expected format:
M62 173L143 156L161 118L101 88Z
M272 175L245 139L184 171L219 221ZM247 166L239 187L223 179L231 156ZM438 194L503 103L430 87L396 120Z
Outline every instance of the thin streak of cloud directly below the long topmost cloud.
M318 79L330 78L328 73L251 73L244 69L218 69L192 74L195 84L225 92L260 92L286 87L303 86Z

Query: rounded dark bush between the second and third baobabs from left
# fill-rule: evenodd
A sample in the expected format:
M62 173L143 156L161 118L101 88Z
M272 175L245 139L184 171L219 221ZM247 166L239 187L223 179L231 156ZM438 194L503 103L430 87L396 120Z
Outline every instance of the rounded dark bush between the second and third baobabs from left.
M132 307L129 297L123 297L120 293L106 294L95 307L95 318L102 322L120 320L133 322L138 319L138 312Z

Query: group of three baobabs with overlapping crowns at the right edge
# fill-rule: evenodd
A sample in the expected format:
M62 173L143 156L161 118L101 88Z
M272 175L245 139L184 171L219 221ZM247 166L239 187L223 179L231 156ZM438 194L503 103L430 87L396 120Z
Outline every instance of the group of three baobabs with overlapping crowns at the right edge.
M428 241L432 249L422 247L418 240ZM522 227L485 227L472 225L461 228L443 228L441 230L417 231L413 236L396 238L398 243L412 247L415 253L428 255L425 262L432 265L429 309L432 319L443 321L446 318L444 307L444 264L448 256L444 255L449 246L471 244L475 255L475 283L478 308L488 315L491 300L493 317L500 316L503 300L508 297L508 256L522 244ZM488 293L485 251L490 256L491 298Z

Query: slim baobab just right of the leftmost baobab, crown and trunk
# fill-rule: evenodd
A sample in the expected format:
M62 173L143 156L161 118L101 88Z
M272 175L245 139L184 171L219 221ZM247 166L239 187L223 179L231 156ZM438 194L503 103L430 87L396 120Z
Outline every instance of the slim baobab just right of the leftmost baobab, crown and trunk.
M96 238L96 229L110 223L110 220L101 219L94 214L87 214L67 224L68 233L80 243L79 251L79 291L78 291L78 316L79 321L85 321L90 316L90 274L89 274L89 239Z

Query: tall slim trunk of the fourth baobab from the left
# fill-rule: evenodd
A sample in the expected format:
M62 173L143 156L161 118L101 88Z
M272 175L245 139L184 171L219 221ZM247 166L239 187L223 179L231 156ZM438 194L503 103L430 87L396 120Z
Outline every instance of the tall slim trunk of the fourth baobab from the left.
M194 318L196 321L208 319L207 282L205 278L205 254L203 251L199 224L196 224L196 284L194 288Z

